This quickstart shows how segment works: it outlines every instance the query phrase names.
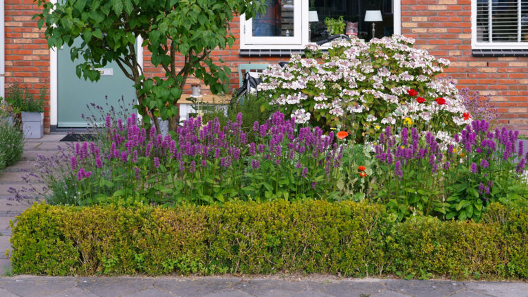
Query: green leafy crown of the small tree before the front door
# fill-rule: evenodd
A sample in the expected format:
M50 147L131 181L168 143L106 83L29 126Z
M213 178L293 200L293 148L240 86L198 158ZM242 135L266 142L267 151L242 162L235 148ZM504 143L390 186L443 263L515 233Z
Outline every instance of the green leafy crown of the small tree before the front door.
M45 24L50 47L72 46L74 39L83 39L71 50L72 61L85 60L76 66L77 76L98 80L96 68L115 61L135 84L140 114L155 111L171 121L188 76L203 80L213 94L227 92L220 82L228 80L230 69L216 65L210 52L234 43L228 32L234 13L249 19L265 9L262 0L34 1L43 8L34 17L39 28ZM164 78L143 76L135 50L139 36L152 53L153 65L165 70ZM183 66L176 63L177 55L184 57Z

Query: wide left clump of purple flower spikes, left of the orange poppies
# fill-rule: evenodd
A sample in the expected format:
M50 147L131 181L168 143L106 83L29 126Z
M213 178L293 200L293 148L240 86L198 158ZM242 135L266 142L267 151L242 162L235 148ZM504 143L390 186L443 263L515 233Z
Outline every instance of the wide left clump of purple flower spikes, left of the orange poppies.
M154 127L140 128L135 115L126 123L113 122L108 115L109 148L94 142L76 144L69 159L41 162L36 177L60 185L48 197L50 203L74 205L337 199L342 148L332 133L297 127L294 120L274 113L270 120L254 123L256 140L248 142L242 124L241 113L225 126L217 119L203 125L200 118L190 118L173 140L157 134ZM70 184L76 188L74 195L56 192Z

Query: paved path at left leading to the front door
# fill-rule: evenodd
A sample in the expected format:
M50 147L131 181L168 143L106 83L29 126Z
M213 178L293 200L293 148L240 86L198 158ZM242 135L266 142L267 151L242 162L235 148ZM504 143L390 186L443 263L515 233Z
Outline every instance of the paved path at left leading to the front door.
M65 142L59 142L64 136L65 134L63 133L47 134L40 140L25 140L22 159L12 166L3 169L0 173L0 275L4 274L6 270L10 270L8 257L5 256L5 250L11 248L11 244L9 243L11 235L9 221L28 208L28 203L9 201L8 197L12 197L12 195L8 193L8 188L27 186L21 179L21 175L25 173L23 170L28 170L33 167L37 153L50 156L58 152L57 145L61 144L65 148ZM3 297L1 291L0 297Z

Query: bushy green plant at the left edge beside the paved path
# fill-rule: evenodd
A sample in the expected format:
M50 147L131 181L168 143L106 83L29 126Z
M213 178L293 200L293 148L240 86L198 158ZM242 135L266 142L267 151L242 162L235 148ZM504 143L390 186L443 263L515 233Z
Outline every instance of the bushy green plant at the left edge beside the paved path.
M24 148L24 137L19 124L0 113L0 170L17 162Z

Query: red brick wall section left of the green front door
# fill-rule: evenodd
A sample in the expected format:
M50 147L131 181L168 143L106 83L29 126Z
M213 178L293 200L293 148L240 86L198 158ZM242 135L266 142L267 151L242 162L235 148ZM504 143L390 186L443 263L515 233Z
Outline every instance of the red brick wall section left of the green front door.
M33 0L5 0L5 83L18 82L45 97L44 129L50 131L50 50L43 30L33 15L39 11Z

